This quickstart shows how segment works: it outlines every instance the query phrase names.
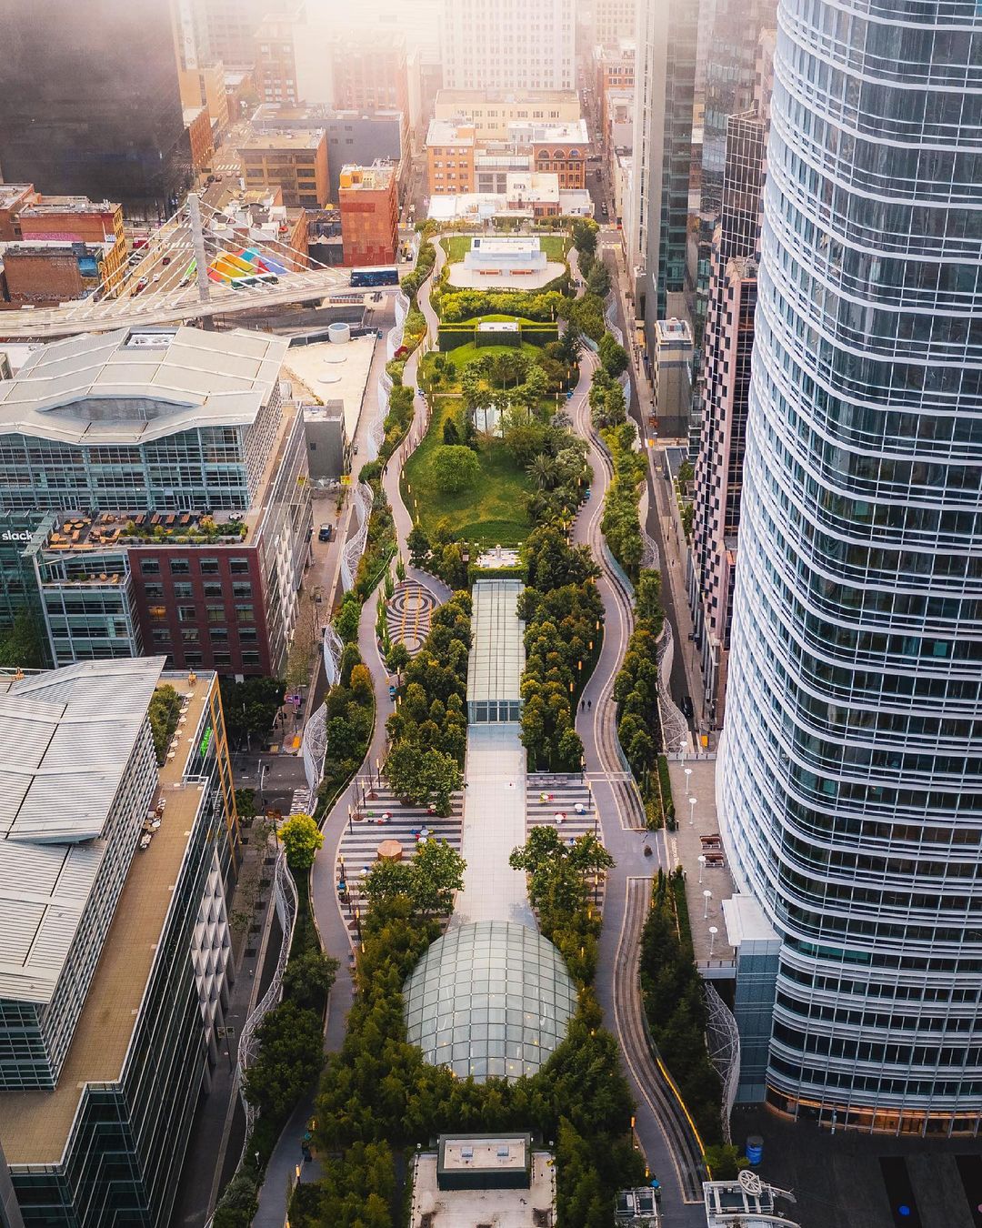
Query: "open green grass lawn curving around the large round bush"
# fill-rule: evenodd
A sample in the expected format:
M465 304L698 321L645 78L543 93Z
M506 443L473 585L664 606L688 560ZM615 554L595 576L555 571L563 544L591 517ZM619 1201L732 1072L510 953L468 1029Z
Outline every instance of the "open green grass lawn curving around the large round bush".
M432 533L444 517L455 534L481 545L518 545L524 542L532 524L522 496L532 490L532 481L512 459L501 440L481 443L477 459L481 480L474 490L459 495L443 495L433 481L436 449L443 443L443 422L460 411L457 397L438 397L426 438L416 448L403 470L403 499L415 511L425 533ZM412 488L409 494L406 486Z

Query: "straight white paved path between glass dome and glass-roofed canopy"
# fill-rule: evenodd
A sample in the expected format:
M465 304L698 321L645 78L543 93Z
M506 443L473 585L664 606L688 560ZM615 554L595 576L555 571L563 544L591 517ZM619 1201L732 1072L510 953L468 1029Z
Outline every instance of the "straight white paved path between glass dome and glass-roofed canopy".
M518 723L469 725L464 889L452 925L514 921L535 930L525 872L508 855L525 842L525 748Z

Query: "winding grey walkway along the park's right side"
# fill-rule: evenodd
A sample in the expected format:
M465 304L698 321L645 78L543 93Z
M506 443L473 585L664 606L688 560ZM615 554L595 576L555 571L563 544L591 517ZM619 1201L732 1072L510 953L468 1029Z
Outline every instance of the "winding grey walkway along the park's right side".
M597 997L608 1024L617 1036L627 1078L637 1100L636 1132L653 1174L662 1183L662 1210L673 1226L705 1226L701 1199L701 1158L684 1113L646 1035L638 958L641 931L647 916L652 877L668 867L667 846L644 829L644 808L637 787L625 770L616 739L614 679L633 626L631 597L617 575L600 532L603 501L613 479L609 456L603 449L589 416L589 381L595 356L584 350L581 375L568 413L587 440L593 467L590 500L581 508L573 540L588 545L601 575L597 582L604 603L604 640L593 675L583 691L586 710L577 715L583 739L586 771L600 814L604 844L616 866L606 883L604 927L597 971ZM652 850L644 856L644 849Z

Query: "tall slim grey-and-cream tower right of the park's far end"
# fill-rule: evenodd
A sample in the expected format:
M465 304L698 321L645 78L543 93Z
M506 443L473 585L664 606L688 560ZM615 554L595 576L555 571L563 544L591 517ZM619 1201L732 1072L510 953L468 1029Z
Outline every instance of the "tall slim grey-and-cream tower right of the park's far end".
M638 0L628 259L648 352L655 321L687 316L685 260L698 4Z

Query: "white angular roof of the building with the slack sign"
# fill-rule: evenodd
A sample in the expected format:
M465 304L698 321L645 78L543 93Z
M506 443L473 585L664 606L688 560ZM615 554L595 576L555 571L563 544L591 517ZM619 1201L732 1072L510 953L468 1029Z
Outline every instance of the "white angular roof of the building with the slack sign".
M287 348L265 333L187 324L54 341L0 381L0 433L137 445L190 427L249 425Z

